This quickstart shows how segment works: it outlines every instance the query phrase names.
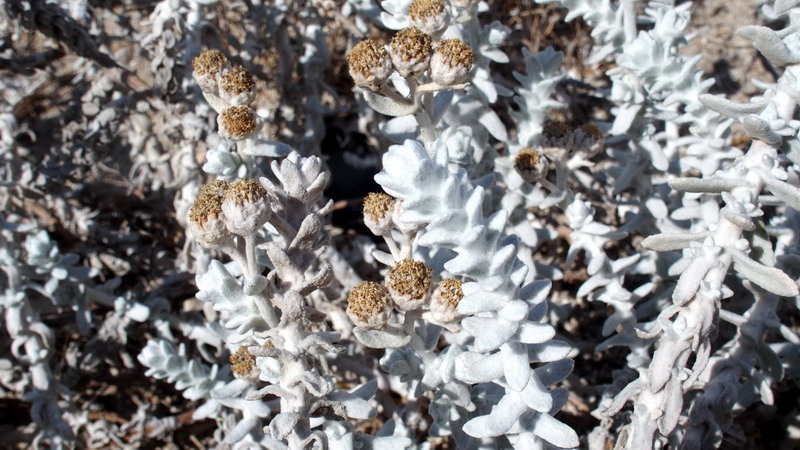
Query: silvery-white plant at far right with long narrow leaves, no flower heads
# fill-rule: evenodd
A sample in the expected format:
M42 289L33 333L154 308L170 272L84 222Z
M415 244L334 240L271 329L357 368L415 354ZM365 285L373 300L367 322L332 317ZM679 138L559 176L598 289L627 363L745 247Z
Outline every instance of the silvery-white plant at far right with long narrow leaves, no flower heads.
M586 15L586 10L581 9L579 3L565 2L564 5L573 9L575 15ZM614 11L624 12L625 6L625 2L619 7L605 4L604 7L609 8L608 13L605 16L596 15L593 20L601 25L603 17L612 17ZM612 337L608 344L629 347L631 354L628 362L639 375L638 378L629 379L629 384L614 396L613 401L606 399L609 401L603 402L598 411L604 418L602 427L608 427L614 415L625 407L627 401L632 401L630 423L621 428L615 437L620 448L652 448L660 441L659 435L681 442L687 448L719 445L724 424L718 420L729 416L733 402L730 397L726 403L726 400L714 396L723 395L725 389L730 389L727 391L729 393L747 389L742 384L724 385L730 383L725 381L731 380L729 377L717 379L711 376L727 364L732 364L737 370L730 373L734 377L749 373L756 380L761 380L754 386L761 392L762 401L771 403L767 380L779 379L780 370L777 373L772 370L768 377L758 375L758 372L753 374L752 364L740 365L729 359L742 357L746 360L747 357L742 353L745 350L731 353L729 349L740 349L742 344L737 342L745 338L755 339L755 342L760 342L758 345L766 348L763 333L768 326L763 321L774 314L776 307L776 303L770 303L769 299L775 295L798 294L797 281L780 270L781 259L767 237L765 226L768 222L762 218L764 211L760 201L764 198L762 191L767 190L772 196L766 198L770 198L770 203L778 208L798 206L797 187L785 182L791 179L789 174L792 166L782 164L782 156L776 151L776 148L783 147L791 152L789 149L793 147L791 141L796 129L790 130L793 130L791 116L796 96L791 100L777 100L782 108L770 104L770 100L781 98L780 86L787 85L787 81L792 86L791 42L795 35L790 31L781 35L763 27L745 27L740 31L742 36L754 40L759 51L770 58L773 64L789 66L766 101L759 106L740 106L705 94L710 82L702 81L698 74L693 73L696 59L675 54L676 45L685 42L680 32L688 21L685 8L655 3L649 13L653 17L654 28L638 35L628 33L624 40L618 41L620 54L617 64L620 68L609 71L614 83L611 97L619 104L610 133L627 134L628 150L632 151L627 156L627 165L617 175L615 190L620 192L631 186L635 177L647 170L644 164L652 164L656 170L670 173L674 173L675 169L682 172L696 168L703 175L703 179L674 178L669 181L672 189L694 193L684 198L684 205L698 201L703 203L703 209L695 208L694 214L687 207L674 209L672 201L665 204L663 200L658 200L659 197L667 200L663 189L655 192L657 196L650 197L652 187L641 183L636 187L642 200L647 202L642 206L658 219L659 227L668 231L646 239L643 246L660 251L686 249L684 258L674 261L669 274L662 272L654 278L663 293L669 294L669 290L672 290L671 305L658 314L656 320L640 324L637 323L637 317L631 314L632 307L653 289L652 284L642 285L634 295L627 293L616 301L608 297L607 287L605 293L596 297L614 305L617 311L618 319L606 322L606 330L608 326L619 326L620 335ZM782 4L778 7L778 15L789 12L790 8L791 5ZM791 25L788 29L792 29ZM602 29L596 31L598 36L604 35ZM608 50L604 51L607 55L616 52ZM680 76L676 77L675 74ZM794 87L789 89L796 92ZM685 105L683 115L677 114L677 106L681 104ZM763 117L759 117L759 113ZM730 120L724 116L741 120L745 131L754 140L745 155L733 160L738 152L726 142ZM665 124L665 131L656 133L652 127L659 122ZM681 124L690 125L691 135L680 134L678 127ZM784 143L781 136L787 135L790 138ZM612 151L619 156L626 154L618 149ZM680 165L670 168L667 155L670 158L678 156ZM709 197L714 194L720 194L723 207L717 206L716 201ZM674 210L672 220L668 218L671 210ZM681 230L679 221L689 218L692 220L691 229ZM639 225L642 225L641 220ZM599 248L595 250L593 258L597 258L598 251ZM768 256L765 259L761 255ZM631 263L636 261L615 267L613 273L619 277L626 272L624 267ZM778 268L773 267L776 264ZM748 299L747 295L735 295L726 286L725 277L729 268L746 280L741 284L749 288L745 292L753 292L749 298L753 302L752 307L743 316L732 316L722 309L724 299L728 297ZM639 267L637 270L641 269ZM673 288L667 279L674 274L682 275ZM619 286L619 282L616 285ZM597 286L584 284L581 291L585 294L588 291L584 287L591 290ZM664 297L657 294L654 299L665 304ZM727 318L723 320L733 323L741 331L729 346L712 354L711 346L717 335L719 318ZM772 327L776 326L780 328L773 322ZM794 342L796 337L791 335L788 340ZM650 348L654 348L654 351L648 351ZM774 354L771 350L767 353ZM691 366L688 365L690 357L694 359ZM702 394L691 402L691 397L686 397L690 391L700 391ZM689 403L685 404L686 401ZM714 407L709 405L720 409L714 411ZM694 424L688 431L676 429L679 423L687 423L687 420ZM601 448L612 438L602 427L598 427L590 439L593 447Z

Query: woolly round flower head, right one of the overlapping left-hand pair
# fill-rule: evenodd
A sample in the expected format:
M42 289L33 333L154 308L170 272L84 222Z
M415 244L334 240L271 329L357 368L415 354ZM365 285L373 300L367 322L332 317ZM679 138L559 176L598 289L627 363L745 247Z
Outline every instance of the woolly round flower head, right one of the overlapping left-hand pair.
M239 236L254 234L272 215L267 190L252 178L241 179L225 191L222 212L228 230Z

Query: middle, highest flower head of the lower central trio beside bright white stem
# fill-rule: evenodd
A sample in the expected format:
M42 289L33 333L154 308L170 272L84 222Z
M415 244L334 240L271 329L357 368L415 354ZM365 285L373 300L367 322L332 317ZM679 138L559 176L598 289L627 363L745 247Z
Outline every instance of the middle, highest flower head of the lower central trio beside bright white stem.
M400 311L411 311L428 300L433 271L425 263L404 259L389 269L386 287Z

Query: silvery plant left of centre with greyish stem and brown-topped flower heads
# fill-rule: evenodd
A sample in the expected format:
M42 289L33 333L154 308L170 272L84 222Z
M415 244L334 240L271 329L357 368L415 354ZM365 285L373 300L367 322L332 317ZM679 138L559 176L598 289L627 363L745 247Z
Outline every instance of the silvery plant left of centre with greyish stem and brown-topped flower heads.
M194 67L204 95L220 113L220 133L252 148L258 119L248 106L248 89L253 89L249 74L230 67L216 51L198 56ZM188 212L194 239L233 260L233 270L212 260L197 276L197 296L213 306L218 315L211 316L229 330L226 341L237 348L231 349L237 380L226 383L219 379L217 366L209 371L198 361L188 361L184 348L176 353L168 341L151 342L139 360L150 375L187 389L187 398L206 400L196 418L220 414L221 406L239 410L238 424L225 430L231 444L246 435L267 447L292 449L328 447L329 440L345 447L354 439L373 440L349 424L337 428L336 421L373 416L365 398L374 385L352 393L337 388L327 364L318 359L344 350L335 344L339 335L312 327L325 317L315 307L318 290L333 276L331 264L321 260L328 242L323 220L333 205L321 199L329 176L318 157L292 152L273 162L272 177L207 183ZM267 276L262 275L265 265L271 269ZM257 385L265 386L255 389ZM258 420L269 417L261 401L267 396L280 399L280 412L268 425ZM263 433L253 429L259 424Z

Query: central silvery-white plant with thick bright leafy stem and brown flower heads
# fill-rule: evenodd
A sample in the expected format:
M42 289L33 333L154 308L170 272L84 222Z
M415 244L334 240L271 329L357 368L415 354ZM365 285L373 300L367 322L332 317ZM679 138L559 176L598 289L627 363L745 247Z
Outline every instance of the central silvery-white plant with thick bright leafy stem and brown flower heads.
M439 36L452 29L464 37L462 45L474 43L475 49L481 45L474 16L477 2L466 5L466 11L462 5L451 9L446 2L408 3L384 2L391 13L384 22L426 30L426 20L452 20L455 25L446 30L434 27L427 39L436 45ZM405 60L401 43L409 29L416 30L403 28L388 53L374 46L370 51L376 58L391 56L394 69L411 87L410 102L403 102L384 84L391 79L391 66L378 72L382 69L377 64L363 63L375 61L363 56L366 44L360 43L348 56L351 74L356 85L366 89L370 106L384 114L413 117L418 127L409 128L419 130L421 141L406 140L390 147L376 181L391 197L370 194L373 197L365 201L365 222L373 233L383 236L390 250L373 255L390 269L385 287L365 282L350 294L348 313L357 325L354 333L369 347L388 349L381 365L408 386L406 395L413 401L402 413L411 423L419 421L414 410L417 399L432 394L429 412L435 421L434 433L452 434L459 445L575 447L579 443L575 432L552 417L566 397L565 391L548 387L569 374L572 362L567 359L569 346L553 340L553 328L541 323L549 282L526 283L529 268L517 256L518 238L504 232L508 214L502 210L484 213L484 188L474 185L463 167L480 163L482 153L473 144L475 139L488 143L485 134L470 136L478 130L477 124L493 126L494 113L487 106L497 91L494 83L484 83L489 79L488 65L482 64L482 58L471 60L475 67L468 80L474 87L452 86L466 88L466 96L429 93L439 84L433 59L429 69L425 65L416 72L398 63ZM487 34L492 33L488 27ZM447 44L438 45L446 48ZM430 44L422 51L433 48L440 51ZM414 57L423 60L425 56ZM534 72L534 66L529 70ZM369 78L377 73L380 78ZM543 85L542 92L551 86ZM425 110L426 96L430 111ZM448 112L452 114L449 122ZM457 138L450 131L453 128L448 130L457 126L463 127L466 139ZM494 128L493 135L505 140L505 133L504 127ZM440 349L442 328L447 330L449 345ZM538 367L532 368L531 363Z

